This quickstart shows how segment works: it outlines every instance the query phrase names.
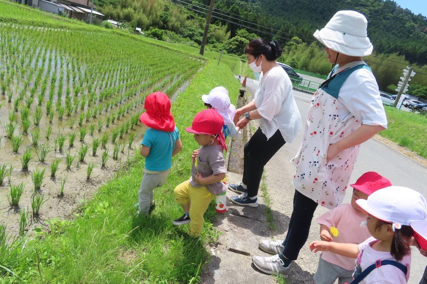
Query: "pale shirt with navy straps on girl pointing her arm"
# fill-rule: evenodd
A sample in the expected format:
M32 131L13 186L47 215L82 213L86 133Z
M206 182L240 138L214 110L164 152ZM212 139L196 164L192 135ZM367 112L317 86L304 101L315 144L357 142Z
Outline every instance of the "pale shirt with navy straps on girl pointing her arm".
M378 252L374 250L371 245L375 241L377 240L374 237L371 237L363 243L359 244L359 251L363 251L362 257L360 258L360 268L362 271L369 267L371 264L374 264L377 260L396 261L396 259L392 257L390 252ZM358 261L359 259L356 260L356 262ZM387 264L372 270L371 273L369 273L362 281L360 281L360 284L406 284L409 279L411 254L409 253L409 255L405 255L403 259L399 262L407 267L408 272L406 276L399 268Z

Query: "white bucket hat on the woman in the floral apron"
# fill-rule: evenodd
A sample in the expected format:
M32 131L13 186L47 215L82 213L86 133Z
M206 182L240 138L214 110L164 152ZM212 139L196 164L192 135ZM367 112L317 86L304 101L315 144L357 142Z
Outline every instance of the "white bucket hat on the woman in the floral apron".
M314 37L328 48L350 56L367 56L372 43L367 35L368 21L356 11L338 11Z

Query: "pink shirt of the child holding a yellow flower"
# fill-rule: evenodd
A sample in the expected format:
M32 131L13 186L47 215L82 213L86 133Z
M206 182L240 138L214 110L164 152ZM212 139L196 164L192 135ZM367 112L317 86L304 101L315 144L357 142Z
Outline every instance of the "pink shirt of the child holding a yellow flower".
M338 237L332 237L333 242L359 244L371 237L368 228L361 227L360 223L366 221L366 215L353 209L351 204L342 204L318 217L316 221L338 229ZM333 252L322 252L322 259L331 264L338 265L346 270L354 270L355 258L337 255Z

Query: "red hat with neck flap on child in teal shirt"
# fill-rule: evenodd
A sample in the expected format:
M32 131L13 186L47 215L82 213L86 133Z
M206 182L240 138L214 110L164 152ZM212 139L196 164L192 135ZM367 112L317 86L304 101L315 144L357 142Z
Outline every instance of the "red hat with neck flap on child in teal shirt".
M145 112L139 117L140 121L157 130L172 132L175 130L175 121L170 112L170 100L165 93L149 94L144 103Z

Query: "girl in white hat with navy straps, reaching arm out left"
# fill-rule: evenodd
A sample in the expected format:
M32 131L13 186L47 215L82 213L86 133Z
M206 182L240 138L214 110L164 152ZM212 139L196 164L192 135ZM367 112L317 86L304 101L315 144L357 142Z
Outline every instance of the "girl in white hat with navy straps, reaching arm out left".
M359 245L314 241L310 249L357 258L352 284L406 284L414 235L410 225L412 220L427 218L425 198L410 188L389 186L356 203L368 214L361 226L367 226L372 237Z

